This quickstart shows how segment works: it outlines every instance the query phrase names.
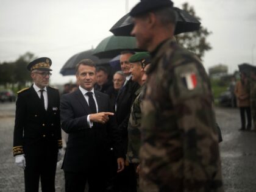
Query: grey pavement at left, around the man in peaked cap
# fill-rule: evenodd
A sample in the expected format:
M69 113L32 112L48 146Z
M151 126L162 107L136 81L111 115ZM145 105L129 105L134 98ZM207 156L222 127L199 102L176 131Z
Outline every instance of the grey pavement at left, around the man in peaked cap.
M12 144L15 120L15 103L0 103L0 192L24 191L24 172L14 163ZM64 190L64 176L57 164L56 192Z

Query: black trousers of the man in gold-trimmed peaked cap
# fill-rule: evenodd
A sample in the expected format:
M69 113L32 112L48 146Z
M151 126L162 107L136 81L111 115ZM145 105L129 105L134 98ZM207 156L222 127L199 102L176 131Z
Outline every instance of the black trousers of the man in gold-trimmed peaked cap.
M26 168L25 191L35 192L39 188L41 180L41 190L45 192L55 191L55 172L57 166L57 152L52 155L34 156L25 154Z

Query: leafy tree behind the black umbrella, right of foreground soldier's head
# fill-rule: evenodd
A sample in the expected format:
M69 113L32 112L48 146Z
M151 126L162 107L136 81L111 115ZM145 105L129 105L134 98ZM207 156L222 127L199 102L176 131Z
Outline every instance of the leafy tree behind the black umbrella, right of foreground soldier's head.
M187 2L182 4L182 9L190 13L190 15L193 15L197 20L201 21L201 18L196 16L194 7L190 6ZM208 31L208 29L203 27L201 24L199 30L176 35L176 39L181 46L194 52L200 59L202 59L205 51L212 49L212 46L207 41L207 37L210 34L212 34L212 32Z

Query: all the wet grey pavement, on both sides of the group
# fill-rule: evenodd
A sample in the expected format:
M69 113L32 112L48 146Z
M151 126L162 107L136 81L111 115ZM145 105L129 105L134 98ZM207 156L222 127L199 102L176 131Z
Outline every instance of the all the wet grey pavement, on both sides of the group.
M23 171L15 166L12 140L15 104L0 104L0 191L24 191ZM235 108L216 108L224 141L220 144L226 192L256 191L256 133L239 132L240 116ZM63 171L57 166L56 191L64 191Z

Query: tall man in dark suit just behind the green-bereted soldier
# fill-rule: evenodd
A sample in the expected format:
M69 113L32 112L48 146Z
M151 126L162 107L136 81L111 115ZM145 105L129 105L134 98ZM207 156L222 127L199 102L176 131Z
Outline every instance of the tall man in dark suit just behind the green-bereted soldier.
M124 82L123 87L119 90L118 96L116 98L116 120L118 123L118 130L121 132L122 139L122 152L123 157L126 157L127 154L127 145L128 145L128 132L127 127L130 117L130 108L132 107L133 101L135 99L135 92L140 88L140 85L137 82L132 81L132 74L130 73L130 57L135 54L132 51L123 51L120 56L120 65L121 69L126 76L126 81ZM116 178L116 191L134 191L136 186L132 186L136 177L132 175L132 166L126 166L123 172L120 172Z

